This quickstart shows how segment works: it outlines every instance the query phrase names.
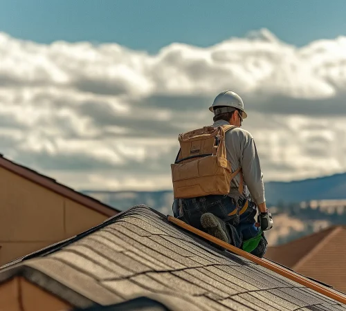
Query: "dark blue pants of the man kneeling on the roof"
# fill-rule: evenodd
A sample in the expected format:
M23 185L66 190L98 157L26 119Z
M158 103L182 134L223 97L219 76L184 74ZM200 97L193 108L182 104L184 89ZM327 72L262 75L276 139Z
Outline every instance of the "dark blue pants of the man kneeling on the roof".
M230 196L201 196L198 198L174 199L173 216L183 220L185 223L192 225L197 229L203 230L201 226L201 216L205 213L212 213L221 218L226 223L226 228L233 241L230 244L235 247L242 247L242 241L253 238L260 233L255 227L256 205L250 200L239 200L236 202ZM262 234L259 245L251 254L261 257L266 252L267 241Z

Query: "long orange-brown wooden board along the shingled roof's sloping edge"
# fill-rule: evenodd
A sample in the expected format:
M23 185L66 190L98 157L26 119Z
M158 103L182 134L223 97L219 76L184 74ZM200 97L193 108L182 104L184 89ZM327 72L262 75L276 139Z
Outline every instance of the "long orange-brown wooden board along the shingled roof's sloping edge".
M291 272L290 270L286 270L283 267L274 265L273 263L269 261L264 261L262 258L254 256L248 252L245 252L244 250L239 249L238 247L235 247L233 245L230 245L224 241L221 241L218 238L215 238L214 236L210 236L210 234L207 234L206 232L203 232L195 227L192 227L191 225L188 225L187 223L184 223L182 220L174 218L173 216L170 216L170 215L167 216L167 220L170 221L171 223L174 223L175 225L178 225L179 227L182 227L194 234L197 234L198 236L201 236L202 238L206 238L208 241L212 243L215 243L217 245L220 245L221 247L228 249L230 252L233 252L239 256L242 256L248 259L249 261L253 261L253 263L262 265L262 267L266 267L267 269L273 272L276 272L286 277L287 279L290 279L301 285L304 285L307 288L310 288L311 290L315 290L316 292L319 292L320 294L323 294L331 299L339 301L340 303L346 304L346 296L341 296L340 294L337 294L336 292L332 292L331 290L322 287L320 284L316 282L310 281L309 279L305 279L303 276L300 276L299 274L295 274Z

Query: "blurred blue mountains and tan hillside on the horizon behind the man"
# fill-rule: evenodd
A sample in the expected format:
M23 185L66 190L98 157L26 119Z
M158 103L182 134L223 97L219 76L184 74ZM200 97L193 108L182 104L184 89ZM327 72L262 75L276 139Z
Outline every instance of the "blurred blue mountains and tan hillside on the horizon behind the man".
M340 217L346 214L346 173L291 182L266 182L265 189L266 202L275 220L275 227L267 234L271 245L289 242L329 225L346 225L346 217ZM171 190L82 192L116 209L145 204L172 215ZM312 200L321 202L309 205ZM303 206L302 202L307 204Z

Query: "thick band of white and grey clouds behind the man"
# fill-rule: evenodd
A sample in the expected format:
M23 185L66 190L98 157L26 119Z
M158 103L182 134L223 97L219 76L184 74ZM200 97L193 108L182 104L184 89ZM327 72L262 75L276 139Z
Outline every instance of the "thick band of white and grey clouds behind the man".
M346 37L297 48L268 30L157 55L0 33L0 152L76 188L170 189L183 131L244 97L264 178L346 170Z

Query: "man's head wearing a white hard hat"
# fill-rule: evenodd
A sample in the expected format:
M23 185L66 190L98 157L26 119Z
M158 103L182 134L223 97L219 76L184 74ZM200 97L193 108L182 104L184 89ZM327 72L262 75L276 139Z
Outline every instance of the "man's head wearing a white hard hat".
M215 97L209 110L214 113L214 121L225 120L231 125L242 126L242 121L248 115L244 111L244 103L234 91L224 91Z

